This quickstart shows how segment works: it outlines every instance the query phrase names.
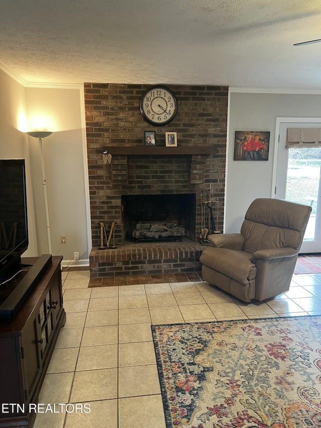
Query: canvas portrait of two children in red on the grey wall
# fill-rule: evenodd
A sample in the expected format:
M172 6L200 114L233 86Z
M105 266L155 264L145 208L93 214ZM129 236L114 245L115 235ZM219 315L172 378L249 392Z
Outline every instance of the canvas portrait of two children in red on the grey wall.
M269 131L235 131L234 161L267 161Z

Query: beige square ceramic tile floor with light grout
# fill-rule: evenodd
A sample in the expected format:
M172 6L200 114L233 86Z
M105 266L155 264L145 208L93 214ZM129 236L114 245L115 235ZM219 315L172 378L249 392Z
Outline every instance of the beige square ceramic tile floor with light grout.
M88 288L89 271L62 274L67 322L39 402L91 411L38 413L35 428L165 428L151 324L321 314L321 273L293 275L287 293L250 304L196 276Z

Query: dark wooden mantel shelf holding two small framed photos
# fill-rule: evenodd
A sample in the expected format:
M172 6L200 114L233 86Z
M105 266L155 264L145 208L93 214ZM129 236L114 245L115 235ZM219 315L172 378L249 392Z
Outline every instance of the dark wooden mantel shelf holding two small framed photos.
M111 155L216 155L218 152L215 146L109 146L106 151Z

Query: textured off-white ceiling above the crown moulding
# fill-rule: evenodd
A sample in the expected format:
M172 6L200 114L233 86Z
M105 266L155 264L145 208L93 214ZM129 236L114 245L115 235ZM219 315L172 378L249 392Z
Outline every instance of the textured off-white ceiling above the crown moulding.
M0 0L27 82L321 88L321 0Z

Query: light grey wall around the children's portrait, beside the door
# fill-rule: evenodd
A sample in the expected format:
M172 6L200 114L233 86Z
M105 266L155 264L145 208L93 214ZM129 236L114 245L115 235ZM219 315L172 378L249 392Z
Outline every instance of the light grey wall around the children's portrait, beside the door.
M276 117L321 117L321 95L242 93L230 90L225 231L239 232L256 198L270 198ZM269 159L234 161L235 131L270 131Z

